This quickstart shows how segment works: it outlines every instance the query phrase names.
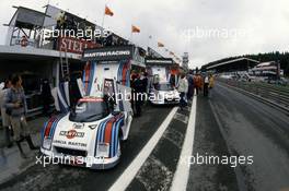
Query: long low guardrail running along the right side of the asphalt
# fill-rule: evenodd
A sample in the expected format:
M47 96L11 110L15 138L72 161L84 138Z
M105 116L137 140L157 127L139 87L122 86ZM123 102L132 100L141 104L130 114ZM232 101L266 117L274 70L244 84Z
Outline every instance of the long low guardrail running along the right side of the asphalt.
M244 89L259 97L270 100L276 106L287 108L289 111L289 87L267 84L264 82L242 82L236 80L217 79L218 82Z

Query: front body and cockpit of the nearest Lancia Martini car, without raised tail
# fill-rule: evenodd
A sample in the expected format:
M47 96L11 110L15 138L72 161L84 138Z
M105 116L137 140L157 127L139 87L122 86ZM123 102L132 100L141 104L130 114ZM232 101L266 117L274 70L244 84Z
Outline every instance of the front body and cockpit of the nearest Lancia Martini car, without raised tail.
M66 165L112 168L119 162L131 120L126 111L111 111L103 98L81 98L70 112L45 123L41 151Z

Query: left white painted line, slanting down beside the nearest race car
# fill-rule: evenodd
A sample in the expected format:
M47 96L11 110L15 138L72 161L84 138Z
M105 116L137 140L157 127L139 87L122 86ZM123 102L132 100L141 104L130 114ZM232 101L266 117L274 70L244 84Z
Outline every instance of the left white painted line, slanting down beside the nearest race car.
M114 184L109 188L109 191L122 191L129 186L129 183L136 177L140 167L150 156L152 150L155 147L159 140L162 138L164 131L169 127L176 111L177 111L177 107L174 107L171 110L171 112L164 119L158 131L153 134L153 136L149 140L149 142L140 151L140 153L136 156L136 158L131 162L131 164L126 168L126 170L120 175L120 177L114 182Z

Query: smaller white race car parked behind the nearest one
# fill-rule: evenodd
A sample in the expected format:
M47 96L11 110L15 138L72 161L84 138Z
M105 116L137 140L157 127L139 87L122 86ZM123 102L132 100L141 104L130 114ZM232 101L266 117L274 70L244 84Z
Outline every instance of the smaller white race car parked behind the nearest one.
M170 83L154 84L150 89L150 102L154 105L178 104L180 93Z

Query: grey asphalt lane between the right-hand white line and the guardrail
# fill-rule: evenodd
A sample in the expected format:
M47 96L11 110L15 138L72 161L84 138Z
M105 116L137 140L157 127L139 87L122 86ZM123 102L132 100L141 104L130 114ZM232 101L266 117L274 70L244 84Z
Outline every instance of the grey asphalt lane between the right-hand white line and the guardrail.
M289 117L226 86L198 98L193 156L253 156L253 164L192 165L187 190L289 189Z

